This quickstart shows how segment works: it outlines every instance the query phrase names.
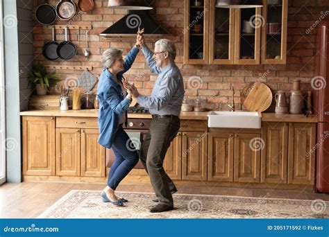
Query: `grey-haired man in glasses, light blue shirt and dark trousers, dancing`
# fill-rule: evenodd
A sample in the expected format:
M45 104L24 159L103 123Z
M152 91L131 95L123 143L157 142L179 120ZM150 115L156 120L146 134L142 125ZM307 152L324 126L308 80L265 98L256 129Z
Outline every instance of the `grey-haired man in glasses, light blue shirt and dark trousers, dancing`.
M151 72L157 73L151 96L143 96L132 85L132 94L137 103L149 109L152 123L142 143L140 159L155 191L158 202L152 213L174 209L172 193L177 191L174 182L162 166L171 141L180 128L180 109L184 97L183 77L176 66L176 47L170 40L155 42L154 53L146 46L142 34L137 35L142 52ZM129 85L128 85L129 86Z

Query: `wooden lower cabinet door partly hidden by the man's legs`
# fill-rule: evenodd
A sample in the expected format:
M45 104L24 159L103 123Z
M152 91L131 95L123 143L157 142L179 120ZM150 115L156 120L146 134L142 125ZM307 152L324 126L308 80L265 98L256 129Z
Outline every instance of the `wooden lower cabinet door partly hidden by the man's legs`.
M182 179L182 132L171 142L163 161L167 175L171 179Z

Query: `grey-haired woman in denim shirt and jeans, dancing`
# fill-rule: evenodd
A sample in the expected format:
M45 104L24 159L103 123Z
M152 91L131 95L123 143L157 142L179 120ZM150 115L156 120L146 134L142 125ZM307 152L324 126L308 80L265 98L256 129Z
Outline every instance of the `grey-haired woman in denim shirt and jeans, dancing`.
M139 31L142 33L142 31ZM103 53L103 71L99 80L97 96L99 97L99 144L112 148L115 161L108 175L108 185L101 192L103 202L110 202L116 206L123 206L128 202L124 198L117 198L115 189L122 179L138 162L136 150L131 149L128 134L122 128L126 122L126 112L132 95L126 93L123 74L133 64L140 45L136 42L133 49L122 58L119 49L108 49ZM128 147L127 147L128 146Z

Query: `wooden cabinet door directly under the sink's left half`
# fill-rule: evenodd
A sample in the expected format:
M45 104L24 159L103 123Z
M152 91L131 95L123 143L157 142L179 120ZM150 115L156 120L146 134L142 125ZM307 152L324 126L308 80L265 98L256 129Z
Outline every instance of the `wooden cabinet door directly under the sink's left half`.
M233 182L234 134L208 134L208 180Z

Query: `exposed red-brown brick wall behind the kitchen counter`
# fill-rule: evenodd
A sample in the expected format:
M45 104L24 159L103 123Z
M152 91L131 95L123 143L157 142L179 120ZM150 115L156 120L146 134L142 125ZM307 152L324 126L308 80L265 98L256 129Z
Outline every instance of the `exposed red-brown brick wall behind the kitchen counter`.
M34 8L44 1L34 0ZM49 1L55 6L56 1ZM81 30L79 41L78 30L70 30L70 40L78 46L78 55L69 61L49 62L42 56L44 42L51 40L51 30L46 29L34 21L33 44L35 46L35 61L44 64L63 65L90 65L94 67L92 73L98 75L101 72L101 53L108 47L116 47L124 50L124 54L133 46L134 41L121 42L120 40L106 40L99 37L99 33L112 25L115 21L124 17L126 10L112 10L107 8L108 1L94 0L95 8L92 13L76 15L71 24L92 24L90 31L90 58L83 56L85 47L85 30ZM321 19L321 12L329 10L328 0L292 0L289 1L288 36L287 36L287 64L286 65L183 65L183 0L154 1L151 15L159 23L167 28L171 35L169 39L176 42L178 56L176 64L180 67L184 80L187 82L191 76L201 76L202 85L199 89L189 88L187 83L185 96L196 98L201 96L207 99L207 107L210 109L228 109L226 103L230 102L230 83L236 89L235 102L240 103L239 91L248 82L260 80L262 77L275 92L278 89L291 89L294 79L301 79L303 90L311 90L310 81L314 75L315 35L314 30L306 33L306 30L317 20ZM328 18L328 16L326 15ZM33 16L34 20L34 16ZM65 21L56 21L55 24L66 24ZM57 31L58 33L58 31ZM58 42L64 40L64 35L57 35ZM153 47L154 42L146 42ZM67 76L78 77L82 71L58 70L61 79ZM135 81L141 94L149 95L156 76L151 74L144 62L144 56L140 53L133 64L133 68L126 73L130 81ZM241 107L238 105L237 108Z

